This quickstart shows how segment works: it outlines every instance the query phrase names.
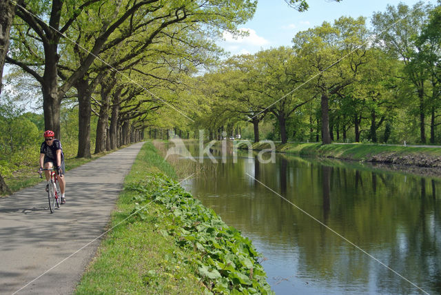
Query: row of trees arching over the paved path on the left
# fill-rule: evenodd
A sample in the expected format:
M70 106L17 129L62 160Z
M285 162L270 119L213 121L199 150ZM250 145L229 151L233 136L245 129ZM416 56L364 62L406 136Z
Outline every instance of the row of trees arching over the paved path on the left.
M161 121L162 108L178 108L189 75L222 53L214 37L236 32L255 8L248 0L0 1L8 97L42 97L44 129L61 139L63 107L77 108L79 157L91 154L93 115L95 152L114 149Z

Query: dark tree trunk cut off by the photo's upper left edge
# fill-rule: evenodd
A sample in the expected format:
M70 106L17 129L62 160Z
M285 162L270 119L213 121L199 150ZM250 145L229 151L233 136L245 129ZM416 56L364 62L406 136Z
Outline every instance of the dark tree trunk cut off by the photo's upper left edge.
M3 66L5 65L6 54L9 49L9 34L12 20L14 19L14 4L10 0L0 0L0 94L1 78L3 77ZM1 176L0 176L1 178ZM3 179L0 179L3 181ZM2 191L3 192L3 191Z

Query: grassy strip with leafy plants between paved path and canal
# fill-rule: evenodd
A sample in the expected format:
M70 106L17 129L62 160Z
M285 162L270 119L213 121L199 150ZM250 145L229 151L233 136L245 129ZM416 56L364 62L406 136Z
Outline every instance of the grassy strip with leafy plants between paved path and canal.
M251 241L172 179L146 143L76 294L271 293Z

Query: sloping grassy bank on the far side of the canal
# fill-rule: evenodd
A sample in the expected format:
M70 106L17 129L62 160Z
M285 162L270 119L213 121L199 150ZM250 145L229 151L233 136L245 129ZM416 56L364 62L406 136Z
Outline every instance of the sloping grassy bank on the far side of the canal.
M243 144L245 146L245 144ZM254 143L253 150L270 148L269 143ZM276 143L276 151L300 156L320 156L355 161L374 161L423 167L441 166L441 148L415 148L396 145L320 143Z

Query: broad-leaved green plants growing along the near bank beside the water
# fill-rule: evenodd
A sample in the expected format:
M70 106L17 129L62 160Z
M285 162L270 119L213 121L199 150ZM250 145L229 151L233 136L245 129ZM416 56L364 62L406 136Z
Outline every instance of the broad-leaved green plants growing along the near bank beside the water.
M176 245L194 250L187 263L198 265L198 276L214 294L272 294L260 255L248 238L227 226L200 201L176 182L161 174L130 183L125 190L135 191L132 221L147 221L145 205L151 200L164 205L160 218L168 222L163 236L172 236ZM151 222L151 221L150 221Z

